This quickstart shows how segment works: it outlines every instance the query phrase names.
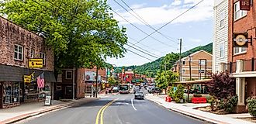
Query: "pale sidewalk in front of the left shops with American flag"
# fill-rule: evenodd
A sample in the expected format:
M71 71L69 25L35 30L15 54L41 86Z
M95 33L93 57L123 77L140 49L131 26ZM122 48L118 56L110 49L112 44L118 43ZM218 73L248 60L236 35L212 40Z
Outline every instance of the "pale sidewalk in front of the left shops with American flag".
M79 105L85 102L92 102L97 98L81 98L78 100L71 100L69 102L60 102L53 100L52 105L44 106L44 102L25 103L13 108L0 109L0 124L17 122L22 119L40 115L44 112L50 112L61 108L67 108L74 105Z

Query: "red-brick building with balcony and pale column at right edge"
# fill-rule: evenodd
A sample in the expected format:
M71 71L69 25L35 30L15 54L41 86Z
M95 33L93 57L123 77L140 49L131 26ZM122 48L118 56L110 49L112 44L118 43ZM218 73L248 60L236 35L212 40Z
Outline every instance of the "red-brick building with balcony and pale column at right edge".
M236 77L236 93L238 95L237 112L246 111L246 98L256 95L256 1L252 1L250 11L240 10L240 2L229 0L228 13L228 61L223 64L223 71ZM252 36L252 44L248 47L233 47L234 33L247 33ZM247 38L248 38L247 37ZM251 41L251 40L249 40ZM226 65L226 66L224 66Z

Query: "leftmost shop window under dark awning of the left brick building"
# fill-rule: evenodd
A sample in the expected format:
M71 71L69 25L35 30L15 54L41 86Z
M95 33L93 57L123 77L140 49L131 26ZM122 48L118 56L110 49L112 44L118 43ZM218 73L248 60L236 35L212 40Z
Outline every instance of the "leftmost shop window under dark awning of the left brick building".
M5 82L3 84L3 103L19 102L19 82Z

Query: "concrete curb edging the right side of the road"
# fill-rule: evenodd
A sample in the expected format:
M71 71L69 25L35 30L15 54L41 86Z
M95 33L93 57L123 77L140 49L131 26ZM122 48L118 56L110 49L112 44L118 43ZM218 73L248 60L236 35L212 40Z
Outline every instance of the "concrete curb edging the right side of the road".
M182 115L188 115L189 117L192 117L194 119L199 119L199 120L202 120L202 121L206 121L206 122L212 122L212 123L220 123L220 124L230 124L230 123L227 123L227 122L221 122L219 120L215 120L215 119L209 119L209 118L205 118L205 117L202 117L201 115L195 115L193 113L190 113L190 112L185 112L185 111L182 111L182 110L179 110L177 108L168 108L164 105L161 104L161 102L157 102L151 98L147 98L147 100L150 100L151 102L154 102L154 103L157 103L158 105L161 105L163 106L164 108L167 108L168 110L171 110L171 111L174 111L174 112L178 112Z

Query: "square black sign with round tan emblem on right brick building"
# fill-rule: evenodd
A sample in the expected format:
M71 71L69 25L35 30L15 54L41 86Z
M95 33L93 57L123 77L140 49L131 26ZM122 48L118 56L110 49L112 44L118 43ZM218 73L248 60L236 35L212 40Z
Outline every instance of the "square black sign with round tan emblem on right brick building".
M233 47L248 47L248 34L233 33Z

